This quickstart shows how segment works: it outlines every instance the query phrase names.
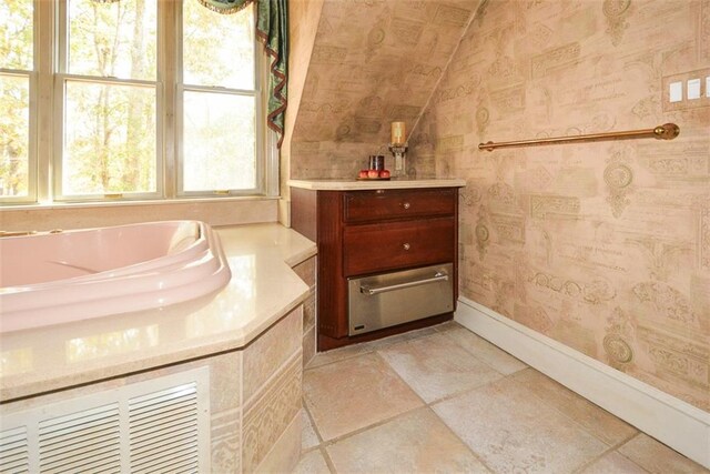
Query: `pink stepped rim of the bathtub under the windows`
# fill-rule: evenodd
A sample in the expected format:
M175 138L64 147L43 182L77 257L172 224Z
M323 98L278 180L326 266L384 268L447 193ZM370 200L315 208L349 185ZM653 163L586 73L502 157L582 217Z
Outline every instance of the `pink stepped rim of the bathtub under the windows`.
M232 273L219 235L197 220L151 221L106 228L75 229L61 234L6 239L62 238L72 233L118 232L125 228L196 225L195 242L183 251L135 264L69 279L0 289L0 336L58 324L171 306L223 289ZM164 260L168 264L159 266ZM148 270L141 273L141 269ZM160 271L162 270L162 271ZM112 274L112 272L118 274ZM161 278L162 275L162 278ZM191 278L192 276L192 278ZM200 279L203 276L203 279ZM163 288L166 281L169 288ZM53 297L48 305L42 297ZM121 307L115 311L115 305ZM47 319L51 319L47 323Z

